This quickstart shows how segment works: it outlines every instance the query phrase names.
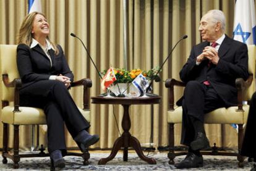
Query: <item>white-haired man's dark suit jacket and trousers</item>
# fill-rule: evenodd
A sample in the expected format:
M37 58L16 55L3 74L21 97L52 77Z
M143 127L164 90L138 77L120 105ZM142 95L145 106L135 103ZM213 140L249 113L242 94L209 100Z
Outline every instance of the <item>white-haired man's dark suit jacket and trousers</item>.
M248 54L247 45L239 41L235 41L228 36L225 36L223 42L218 49L218 56L220 60L217 65L208 65L209 60L203 60L201 64L196 65L196 58L203 52L206 46L210 43L203 42L197 44L192 48L190 57L180 72L181 80L187 83L198 84L198 89L195 88L194 92L189 90L184 91L184 98L182 101L183 117L182 117L182 144L189 145L194 140L194 128L188 122L187 117L193 117L203 122L203 115L200 113L207 113L217 109L218 107L229 107L237 104L237 90L236 78L244 78L246 80L249 76L248 73ZM210 86L203 85L203 81L208 80ZM202 88L202 92L198 93L197 90ZM194 94L194 99L190 98L188 94ZM213 102L207 101L213 98ZM207 102L205 102L207 101ZM191 110L185 109L186 106L191 106ZM193 106L201 106L193 109ZM197 115L200 114L200 115Z

